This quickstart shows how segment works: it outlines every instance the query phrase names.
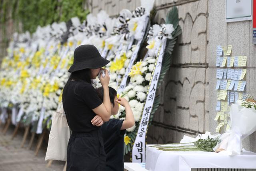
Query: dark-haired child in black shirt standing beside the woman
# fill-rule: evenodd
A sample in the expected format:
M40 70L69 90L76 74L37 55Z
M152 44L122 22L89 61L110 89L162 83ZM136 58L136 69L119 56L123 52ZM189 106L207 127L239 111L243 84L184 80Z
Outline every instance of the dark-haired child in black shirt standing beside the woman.
M103 99L103 88L97 88L96 92L100 99ZM109 96L111 102L111 115L118 113L119 105L124 106L125 120L110 119L101 126L104 149L106 152L106 171L124 170L124 134L126 129L134 126L134 116L132 109L125 98L117 98L116 90L109 87ZM92 120L92 123L95 123Z

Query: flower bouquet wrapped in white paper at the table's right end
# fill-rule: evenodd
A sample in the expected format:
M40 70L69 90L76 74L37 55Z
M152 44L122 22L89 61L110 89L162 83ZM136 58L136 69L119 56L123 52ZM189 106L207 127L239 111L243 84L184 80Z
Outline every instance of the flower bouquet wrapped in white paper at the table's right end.
M254 98L238 100L231 105L231 130L220 136L220 143L214 150L224 151L228 155L238 155L242 151L242 140L256 131L256 101Z

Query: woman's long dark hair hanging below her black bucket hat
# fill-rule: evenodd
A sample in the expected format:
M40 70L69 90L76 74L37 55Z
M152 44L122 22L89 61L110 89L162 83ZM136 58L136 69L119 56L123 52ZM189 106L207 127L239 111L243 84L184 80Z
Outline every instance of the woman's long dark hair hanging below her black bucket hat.
M71 81L84 81L86 83L92 84L92 80L91 80L91 71L90 69L83 69L80 71L74 71L70 74L68 81L66 83L66 85L63 88L63 94L62 94L62 102L65 102L65 96L66 96L66 90L68 85L71 83ZM74 93L75 94L79 94L79 92L77 91L77 86L75 86L74 88Z

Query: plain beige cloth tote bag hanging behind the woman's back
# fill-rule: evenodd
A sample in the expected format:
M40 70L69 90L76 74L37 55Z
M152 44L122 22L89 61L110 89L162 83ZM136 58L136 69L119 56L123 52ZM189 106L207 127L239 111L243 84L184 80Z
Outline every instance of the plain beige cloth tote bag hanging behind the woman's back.
M70 128L62 106L58 104L58 109L52 115L52 128L50 130L49 142L45 160L67 160L67 147L70 138Z

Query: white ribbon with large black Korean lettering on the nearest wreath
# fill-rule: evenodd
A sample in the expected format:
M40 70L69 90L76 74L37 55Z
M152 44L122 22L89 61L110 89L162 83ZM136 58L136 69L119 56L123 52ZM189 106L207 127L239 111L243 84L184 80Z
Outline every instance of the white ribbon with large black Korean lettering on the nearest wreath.
M150 113L156 96L156 89L158 84L159 75L162 68L162 60L164 56L164 49L166 46L166 39L163 40L160 52L158 51L158 59L155 64L154 74L150 81L150 86L148 89L147 99L140 120L140 126L138 133L132 148L132 162L134 163L144 163L145 162L145 152L146 152L146 130L148 127L148 122L150 118Z

